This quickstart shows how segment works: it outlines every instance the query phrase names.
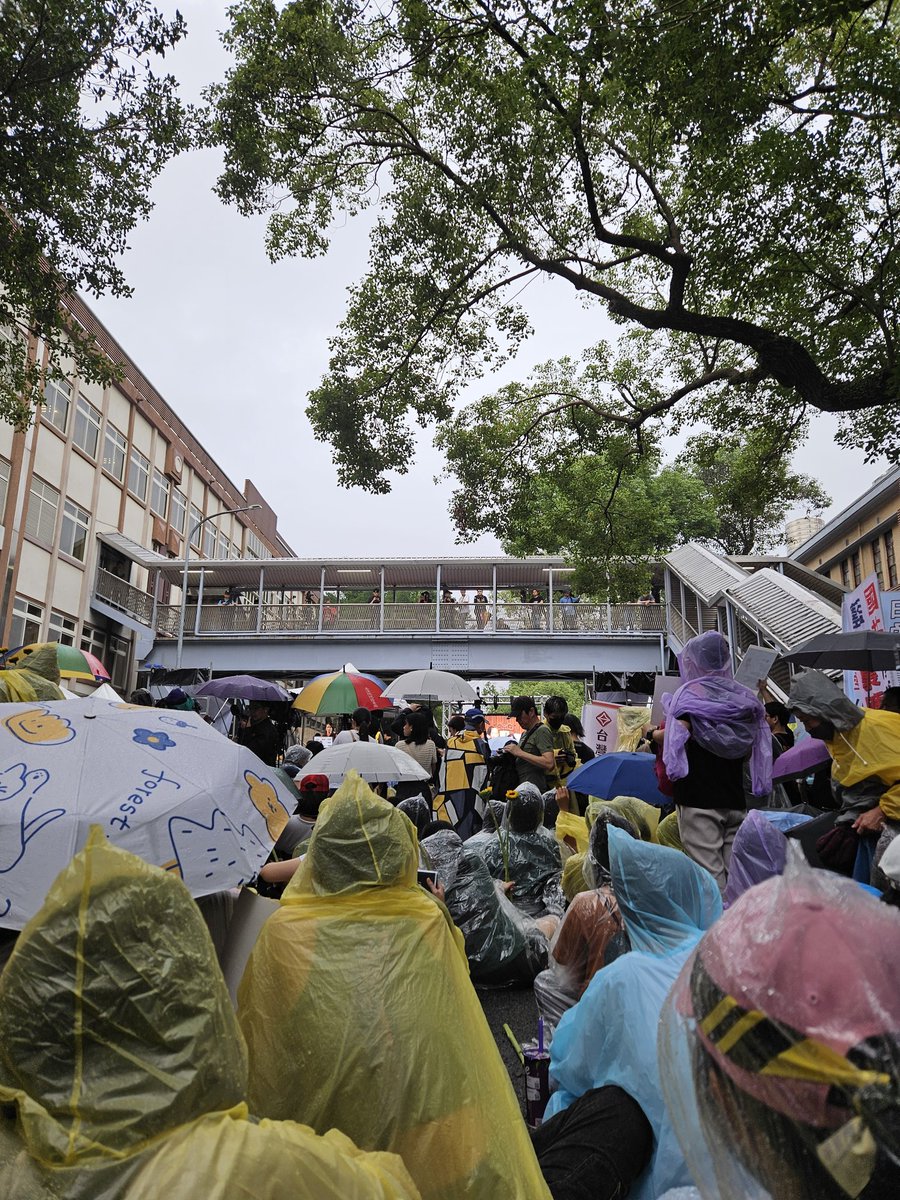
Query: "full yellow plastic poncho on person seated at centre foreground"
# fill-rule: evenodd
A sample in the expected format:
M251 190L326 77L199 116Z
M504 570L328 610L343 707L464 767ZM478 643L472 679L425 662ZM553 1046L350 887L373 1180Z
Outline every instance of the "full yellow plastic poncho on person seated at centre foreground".
M548 1200L409 820L350 774L238 991L251 1104L401 1154L424 1200Z

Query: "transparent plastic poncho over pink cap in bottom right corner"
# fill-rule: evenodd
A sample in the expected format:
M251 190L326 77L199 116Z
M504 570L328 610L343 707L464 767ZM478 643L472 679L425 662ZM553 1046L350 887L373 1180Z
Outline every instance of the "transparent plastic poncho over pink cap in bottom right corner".
M804 863L696 947L659 1037L703 1200L900 1195L900 919Z

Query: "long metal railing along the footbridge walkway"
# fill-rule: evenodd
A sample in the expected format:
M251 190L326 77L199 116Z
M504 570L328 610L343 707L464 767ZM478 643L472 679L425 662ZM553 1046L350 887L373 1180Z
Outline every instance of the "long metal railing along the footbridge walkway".
M133 589L132 589L133 590ZM665 629L664 605L641 604L218 604L185 608L185 635L234 636L263 634L553 634L647 635ZM160 605L156 628L178 637L179 605Z

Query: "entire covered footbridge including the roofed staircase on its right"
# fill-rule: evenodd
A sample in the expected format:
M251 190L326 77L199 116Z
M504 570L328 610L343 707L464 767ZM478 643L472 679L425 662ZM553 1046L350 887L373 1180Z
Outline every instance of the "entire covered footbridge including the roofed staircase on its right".
M671 671L672 655L709 629L727 636L737 666L750 646L786 652L840 629L845 590L791 559L730 558L695 542L662 559L665 602L612 604L572 602L571 568L553 557L185 563L121 534L101 539L120 574L97 571L91 606L138 632L145 664L286 679L348 661L386 676ZM790 674L775 664L776 694Z

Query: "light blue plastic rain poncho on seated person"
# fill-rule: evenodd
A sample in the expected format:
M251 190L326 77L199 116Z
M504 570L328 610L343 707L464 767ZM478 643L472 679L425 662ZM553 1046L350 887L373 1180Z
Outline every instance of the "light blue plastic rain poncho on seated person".
M656 1200L691 1182L662 1102L656 1026L670 988L722 902L712 875L679 851L616 828L608 840L612 887L632 949L599 971L560 1020L550 1063L557 1090L546 1117L592 1087L623 1088L653 1127L653 1158L631 1194Z

